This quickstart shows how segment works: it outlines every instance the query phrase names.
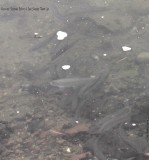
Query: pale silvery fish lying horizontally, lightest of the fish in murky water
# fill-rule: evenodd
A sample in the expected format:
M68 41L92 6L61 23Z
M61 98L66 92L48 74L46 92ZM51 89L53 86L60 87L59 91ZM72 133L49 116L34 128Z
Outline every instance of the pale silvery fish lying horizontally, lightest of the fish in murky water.
M94 77L87 77L87 78L64 78L53 80L50 82L51 86L59 87L59 88L77 88L82 86L90 81L94 80Z

